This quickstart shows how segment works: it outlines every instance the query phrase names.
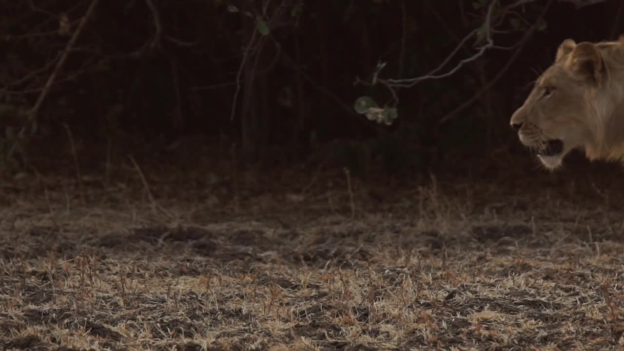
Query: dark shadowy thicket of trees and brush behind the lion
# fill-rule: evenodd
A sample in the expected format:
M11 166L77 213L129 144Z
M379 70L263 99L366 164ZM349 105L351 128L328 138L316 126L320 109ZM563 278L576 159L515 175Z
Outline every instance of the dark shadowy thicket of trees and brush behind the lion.
M624 32L620 0L501 0L490 21L489 0L106 0L89 13L92 1L0 1L4 171L101 171L132 154L174 167L534 172L508 126L530 83L563 39ZM380 79L424 76L484 24L495 47L394 89L392 126L356 114L359 96L396 102L366 84L379 61ZM474 56L484 33L439 73Z

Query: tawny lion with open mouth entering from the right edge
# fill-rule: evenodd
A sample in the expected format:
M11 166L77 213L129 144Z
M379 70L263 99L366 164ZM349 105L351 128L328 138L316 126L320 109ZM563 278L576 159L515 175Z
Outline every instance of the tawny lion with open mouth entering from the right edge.
M551 170L575 148L590 160L624 161L624 35L563 41L510 124Z

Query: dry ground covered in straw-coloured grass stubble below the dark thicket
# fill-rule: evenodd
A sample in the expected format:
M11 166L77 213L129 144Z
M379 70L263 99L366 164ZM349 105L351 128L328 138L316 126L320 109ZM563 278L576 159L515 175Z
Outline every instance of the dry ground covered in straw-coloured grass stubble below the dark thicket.
M619 185L530 171L15 177L0 349L622 349Z

